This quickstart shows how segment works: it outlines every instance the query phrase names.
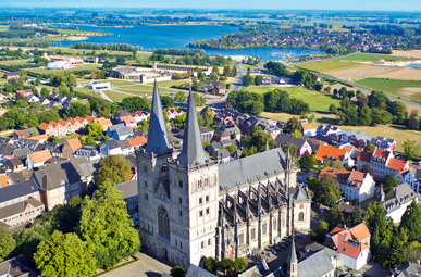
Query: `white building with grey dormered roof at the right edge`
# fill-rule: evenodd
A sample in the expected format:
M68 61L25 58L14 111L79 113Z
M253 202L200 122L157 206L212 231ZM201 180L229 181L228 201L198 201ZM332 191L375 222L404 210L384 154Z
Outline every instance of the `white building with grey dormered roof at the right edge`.
M419 202L419 197L408 184L404 182L392 188L386 194L384 194L382 187L380 200L386 211L386 217L392 218L397 224L400 223L405 211L412 201Z

